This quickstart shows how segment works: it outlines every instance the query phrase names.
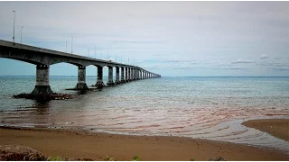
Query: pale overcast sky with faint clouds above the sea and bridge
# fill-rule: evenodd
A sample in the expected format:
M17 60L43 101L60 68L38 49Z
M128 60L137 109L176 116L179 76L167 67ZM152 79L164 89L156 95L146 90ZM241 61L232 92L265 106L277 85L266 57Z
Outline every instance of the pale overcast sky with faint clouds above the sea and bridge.
M162 76L289 76L289 2L0 2L0 40L133 63ZM95 50L96 47L96 50ZM51 65L51 76L77 76ZM114 72L115 73L115 72ZM0 76L35 65L0 58ZM97 67L87 67L96 76ZM104 71L107 76L107 69Z

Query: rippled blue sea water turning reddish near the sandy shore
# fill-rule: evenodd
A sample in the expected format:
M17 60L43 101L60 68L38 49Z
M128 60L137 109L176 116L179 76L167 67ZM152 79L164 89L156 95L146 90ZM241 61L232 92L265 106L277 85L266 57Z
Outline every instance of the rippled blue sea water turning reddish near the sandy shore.
M95 85L96 76L87 76ZM107 77L104 77L107 83ZM0 125L84 129L133 135L182 136L273 147L289 142L247 128L250 119L289 119L289 77L162 77L77 94L77 76L51 76L71 100L14 99L31 93L35 76L0 76Z

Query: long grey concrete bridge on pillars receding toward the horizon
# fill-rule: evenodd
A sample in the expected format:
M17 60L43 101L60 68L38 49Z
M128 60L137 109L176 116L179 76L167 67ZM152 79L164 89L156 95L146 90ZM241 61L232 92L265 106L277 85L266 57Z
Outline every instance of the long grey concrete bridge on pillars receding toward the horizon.
M117 85L125 82L139 79L161 77L141 67L130 66L112 61L106 61L96 58L82 57L79 55L69 54L61 51L42 49L33 46L27 46L11 41L0 40L0 58L11 58L36 65L36 85L31 94L52 94L49 85L49 68L56 63L70 63L79 67L78 83L75 86L77 90L86 90L86 67L93 65L98 67L98 80L96 86L102 88L103 67L108 67L107 86ZM113 82L113 67L116 67L116 81ZM120 77L119 77L119 71Z

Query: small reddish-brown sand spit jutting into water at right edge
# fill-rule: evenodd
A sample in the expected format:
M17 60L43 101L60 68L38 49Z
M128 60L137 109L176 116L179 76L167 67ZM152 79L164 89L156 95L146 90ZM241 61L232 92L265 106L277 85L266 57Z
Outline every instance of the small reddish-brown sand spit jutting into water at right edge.
M264 119L245 121L243 125L265 131L279 139L289 141L289 119Z

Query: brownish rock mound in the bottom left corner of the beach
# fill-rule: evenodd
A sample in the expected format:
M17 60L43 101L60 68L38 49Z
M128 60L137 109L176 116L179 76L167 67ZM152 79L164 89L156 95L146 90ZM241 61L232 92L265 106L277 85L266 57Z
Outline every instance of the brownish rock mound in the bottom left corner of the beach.
M20 145L0 145L0 161L44 161L41 152Z

